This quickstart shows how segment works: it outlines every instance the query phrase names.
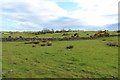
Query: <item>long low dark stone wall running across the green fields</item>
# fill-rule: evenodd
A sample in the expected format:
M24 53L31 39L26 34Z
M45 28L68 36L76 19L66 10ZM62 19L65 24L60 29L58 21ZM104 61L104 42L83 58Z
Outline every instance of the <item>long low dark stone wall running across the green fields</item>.
M109 35L109 37L116 37L120 35ZM108 36L104 36L108 37ZM41 41L41 40L47 40L47 41L71 41L71 40L92 40L97 39L99 37L65 37L65 38L2 38L0 41Z

